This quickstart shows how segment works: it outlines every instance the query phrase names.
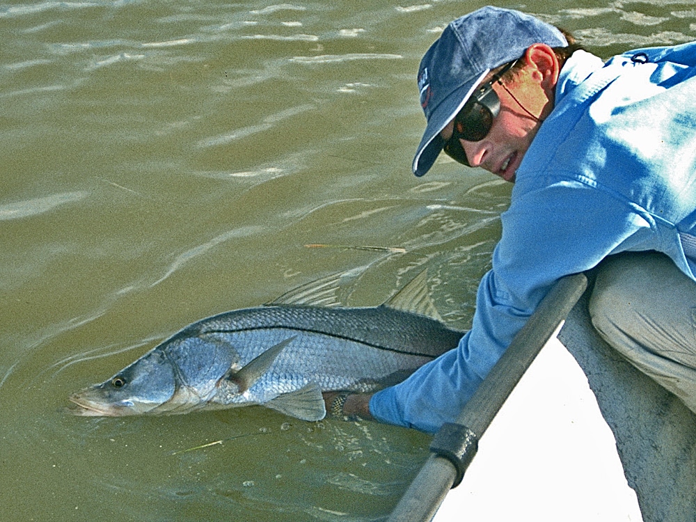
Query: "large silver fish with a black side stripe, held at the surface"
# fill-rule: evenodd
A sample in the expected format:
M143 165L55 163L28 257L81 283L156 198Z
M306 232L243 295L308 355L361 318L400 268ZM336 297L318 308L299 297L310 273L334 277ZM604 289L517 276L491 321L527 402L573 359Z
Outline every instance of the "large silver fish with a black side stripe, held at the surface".
M70 395L70 413L171 415L260 405L322 420L322 393L391 386L464 335L439 317L426 271L371 307L340 306L344 275L189 324L110 379Z

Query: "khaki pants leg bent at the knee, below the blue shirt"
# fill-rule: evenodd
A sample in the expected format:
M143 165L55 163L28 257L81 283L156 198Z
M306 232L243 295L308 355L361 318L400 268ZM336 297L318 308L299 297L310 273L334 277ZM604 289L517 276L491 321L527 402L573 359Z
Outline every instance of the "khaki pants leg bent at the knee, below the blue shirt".
M590 315L606 342L696 413L696 283L670 258L641 252L605 260Z

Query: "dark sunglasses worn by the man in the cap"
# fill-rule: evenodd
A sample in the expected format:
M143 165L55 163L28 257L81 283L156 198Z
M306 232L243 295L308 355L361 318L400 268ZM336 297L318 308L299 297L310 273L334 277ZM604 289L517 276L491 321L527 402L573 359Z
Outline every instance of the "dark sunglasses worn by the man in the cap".
M515 63L517 63L516 60L508 63L494 74L493 78L471 95L466 104L457 113L457 116L454 116L452 136L445 141L443 147L445 154L454 159L454 161L468 167L471 166L459 140L481 141L491 132L493 120L500 112L500 99L498 99L496 91L493 90L493 84L496 81L500 81L500 77L512 69Z

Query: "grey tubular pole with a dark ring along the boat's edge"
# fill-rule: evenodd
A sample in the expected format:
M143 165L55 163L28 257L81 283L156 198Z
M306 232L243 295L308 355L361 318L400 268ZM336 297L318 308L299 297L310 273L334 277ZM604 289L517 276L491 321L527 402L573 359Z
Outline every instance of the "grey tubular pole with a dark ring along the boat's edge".
M431 454L388 522L429 522L450 489L457 487L476 454L477 442L558 325L587 288L585 274L565 276L541 300L498 363L461 410L456 423L441 427Z

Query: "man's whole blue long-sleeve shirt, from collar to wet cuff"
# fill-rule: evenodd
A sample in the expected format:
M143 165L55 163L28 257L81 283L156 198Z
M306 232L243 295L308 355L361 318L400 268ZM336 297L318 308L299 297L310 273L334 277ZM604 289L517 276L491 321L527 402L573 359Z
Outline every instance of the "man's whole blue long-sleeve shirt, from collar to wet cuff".
M425 432L453 422L553 283L607 255L660 251L696 280L695 65L696 42L567 60L516 173L471 330L373 395L375 418Z

